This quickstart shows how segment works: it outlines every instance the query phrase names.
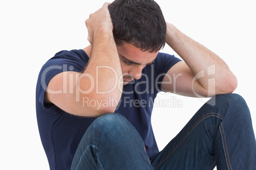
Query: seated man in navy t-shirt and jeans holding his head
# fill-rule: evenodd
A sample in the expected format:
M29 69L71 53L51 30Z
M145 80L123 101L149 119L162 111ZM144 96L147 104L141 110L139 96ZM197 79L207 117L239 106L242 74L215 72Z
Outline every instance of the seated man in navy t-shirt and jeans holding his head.
M60 51L39 74L38 126L50 169L255 168L250 111L229 94L236 77L166 24L157 3L105 3L85 23L90 46ZM184 62L159 53L166 43ZM161 152L150 119L159 91L214 96Z

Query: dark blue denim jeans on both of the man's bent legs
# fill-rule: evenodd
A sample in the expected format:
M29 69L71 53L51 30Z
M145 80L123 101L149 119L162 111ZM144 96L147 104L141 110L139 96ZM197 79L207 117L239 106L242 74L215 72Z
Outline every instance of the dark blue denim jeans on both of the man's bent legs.
M71 169L251 170L256 169L255 160L250 111L241 96L229 94L211 98L151 160L138 132L122 115L103 115L85 132Z

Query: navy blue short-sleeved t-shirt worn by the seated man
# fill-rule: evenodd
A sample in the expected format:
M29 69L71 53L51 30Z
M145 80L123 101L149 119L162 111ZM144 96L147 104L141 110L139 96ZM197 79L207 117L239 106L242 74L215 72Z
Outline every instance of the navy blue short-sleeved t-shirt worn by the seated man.
M83 134L96 118L71 115L53 104L44 103L46 87L52 77L60 72L83 72L88 61L89 56L82 49L60 51L43 65L39 73L36 114L50 169L70 169ZM151 125L153 101L160 91L164 75L177 62L180 59L173 55L159 53L155 62L143 69L141 79L124 86L115 111L124 115L138 130L150 159L159 153Z

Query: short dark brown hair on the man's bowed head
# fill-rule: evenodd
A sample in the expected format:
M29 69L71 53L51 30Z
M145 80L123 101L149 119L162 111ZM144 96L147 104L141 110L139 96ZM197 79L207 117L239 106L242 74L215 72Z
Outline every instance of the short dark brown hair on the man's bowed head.
M128 42L156 52L166 43L166 21L153 0L115 0L109 6L117 45Z

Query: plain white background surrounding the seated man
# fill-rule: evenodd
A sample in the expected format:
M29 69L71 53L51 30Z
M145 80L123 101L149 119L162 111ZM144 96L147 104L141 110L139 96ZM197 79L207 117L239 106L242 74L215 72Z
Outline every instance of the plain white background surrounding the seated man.
M111 1L110 1L111 2ZM35 88L43 63L62 49L89 44L85 20L104 1L1 1L0 169L49 169L39 139ZM167 22L221 56L238 78L256 127L255 2L160 1ZM171 48L163 50L174 54ZM171 98L174 95L162 95ZM152 124L162 149L203 101L175 96L182 107L153 110Z

